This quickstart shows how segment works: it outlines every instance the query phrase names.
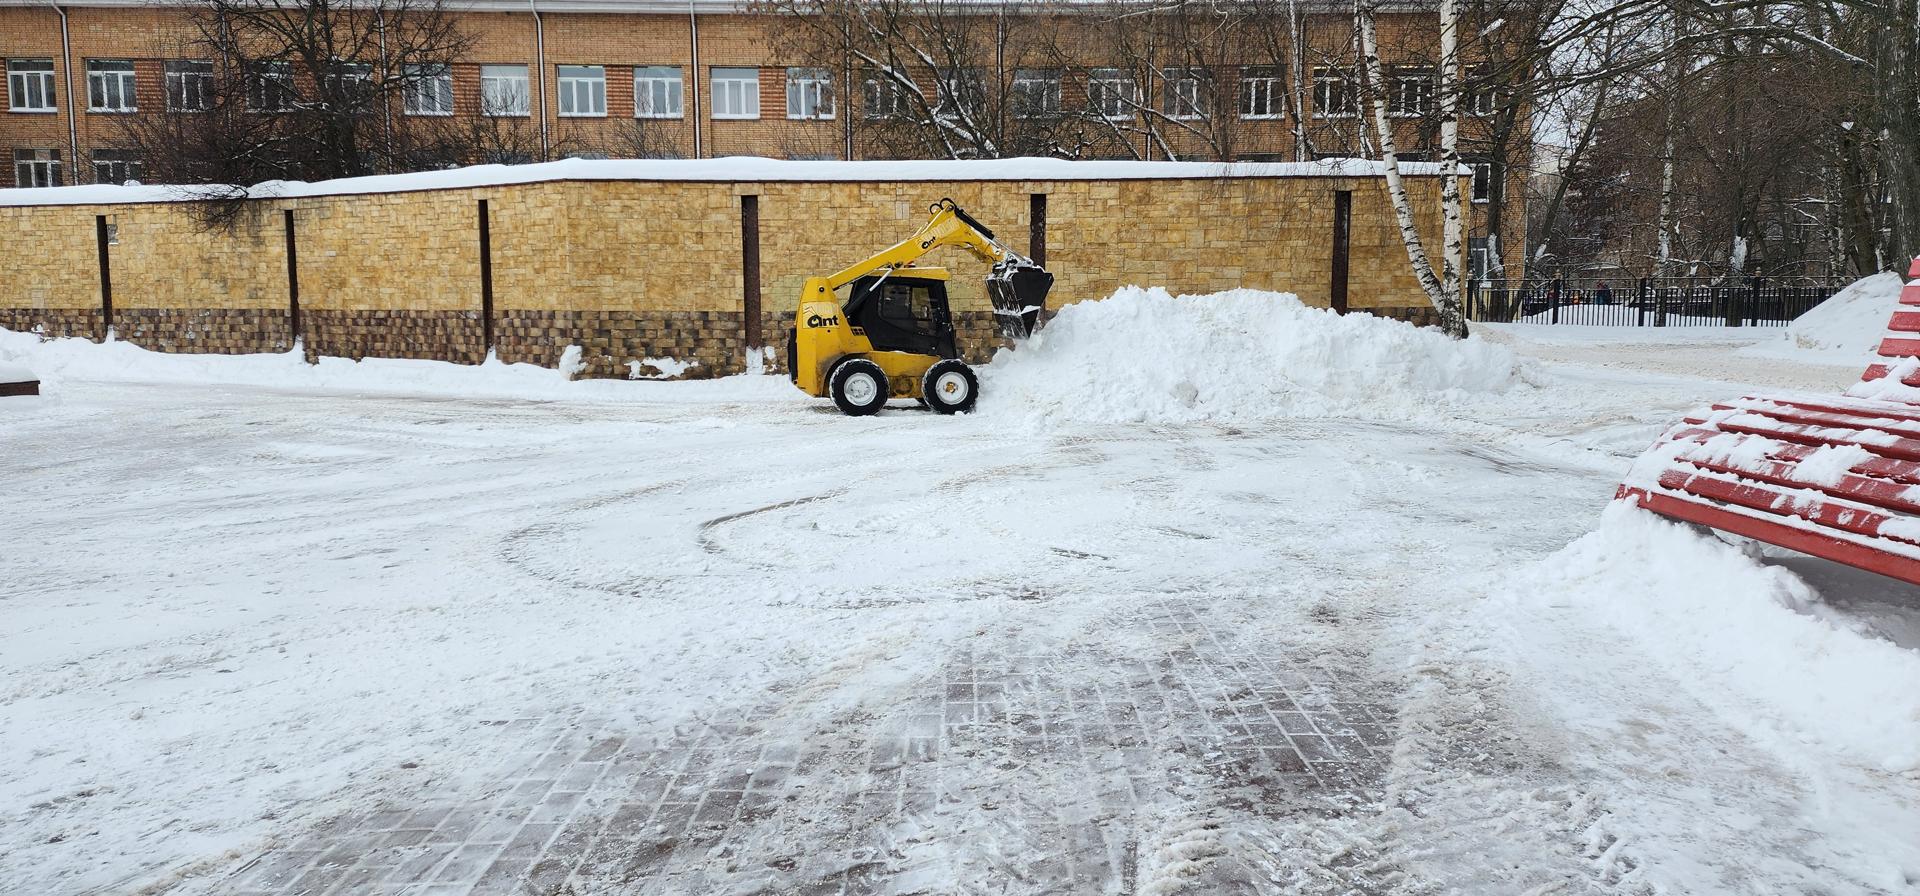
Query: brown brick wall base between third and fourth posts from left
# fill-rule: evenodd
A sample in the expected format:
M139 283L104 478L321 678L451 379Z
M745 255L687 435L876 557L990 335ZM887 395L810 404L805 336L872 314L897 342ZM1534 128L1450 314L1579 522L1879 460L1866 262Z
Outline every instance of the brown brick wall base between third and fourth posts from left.
M687 380L737 374L745 363L737 311L501 311L493 322L493 347L507 363L555 366L568 345L582 349L582 376L626 378L649 357L697 363L682 374Z

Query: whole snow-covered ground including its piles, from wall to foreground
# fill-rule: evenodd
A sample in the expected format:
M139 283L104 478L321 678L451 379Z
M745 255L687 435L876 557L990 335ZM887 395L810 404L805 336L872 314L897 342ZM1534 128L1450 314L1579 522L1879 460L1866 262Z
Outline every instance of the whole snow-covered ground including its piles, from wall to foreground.
M1774 340L1139 290L843 418L0 332L0 892L1916 892L1920 589L1607 510L1866 363Z

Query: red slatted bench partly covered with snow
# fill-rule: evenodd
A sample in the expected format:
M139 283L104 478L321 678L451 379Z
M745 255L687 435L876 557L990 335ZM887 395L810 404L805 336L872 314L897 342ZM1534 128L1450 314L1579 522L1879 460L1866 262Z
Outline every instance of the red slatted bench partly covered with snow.
M1747 395L1688 414L1619 499L1920 585L1920 259L1845 395Z

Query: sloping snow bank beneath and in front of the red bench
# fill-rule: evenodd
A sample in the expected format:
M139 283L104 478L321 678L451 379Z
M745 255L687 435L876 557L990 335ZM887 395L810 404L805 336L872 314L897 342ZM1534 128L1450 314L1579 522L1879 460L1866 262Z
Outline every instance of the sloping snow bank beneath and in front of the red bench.
M1713 535L1617 503L1597 531L1519 574L1505 599L1603 618L1757 733L1889 771L1920 767L1920 652L1862 633L1799 576Z

